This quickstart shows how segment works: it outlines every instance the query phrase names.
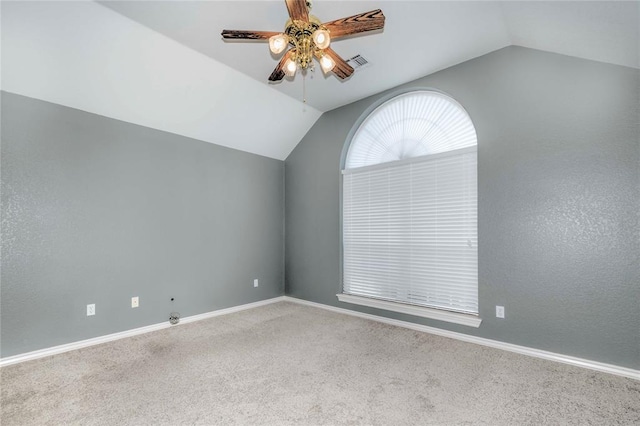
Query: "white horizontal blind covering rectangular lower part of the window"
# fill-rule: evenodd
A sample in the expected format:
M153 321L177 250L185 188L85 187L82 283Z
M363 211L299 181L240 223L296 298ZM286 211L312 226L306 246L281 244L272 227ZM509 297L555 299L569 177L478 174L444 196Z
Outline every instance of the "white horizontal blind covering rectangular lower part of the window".
M343 173L344 293L478 313L476 146Z

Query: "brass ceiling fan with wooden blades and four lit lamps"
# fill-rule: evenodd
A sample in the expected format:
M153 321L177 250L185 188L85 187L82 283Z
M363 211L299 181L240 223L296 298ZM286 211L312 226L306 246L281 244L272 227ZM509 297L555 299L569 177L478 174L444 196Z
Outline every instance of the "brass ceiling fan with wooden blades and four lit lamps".
M351 67L333 49L332 41L350 35L384 28L382 10L360 13L347 18L322 23L309 14L311 1L285 0L290 19L283 32L223 30L225 39L269 40L269 49L278 55L285 54L269 76L269 81L280 81L285 75L293 76L298 69L313 67L313 58L320 63L324 73L333 71L341 80L353 74Z

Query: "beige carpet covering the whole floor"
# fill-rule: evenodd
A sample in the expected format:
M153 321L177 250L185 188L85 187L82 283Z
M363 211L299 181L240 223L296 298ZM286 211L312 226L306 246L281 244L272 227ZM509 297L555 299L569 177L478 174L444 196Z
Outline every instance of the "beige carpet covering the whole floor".
M2 425L640 424L640 382L291 303L1 370Z

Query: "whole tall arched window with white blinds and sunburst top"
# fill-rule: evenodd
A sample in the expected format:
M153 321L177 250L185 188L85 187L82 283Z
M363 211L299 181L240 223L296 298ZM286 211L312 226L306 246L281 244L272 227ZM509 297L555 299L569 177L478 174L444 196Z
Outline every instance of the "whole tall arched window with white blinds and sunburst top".
M477 315L476 147L467 112L435 91L395 96L362 121L343 170L341 301Z

